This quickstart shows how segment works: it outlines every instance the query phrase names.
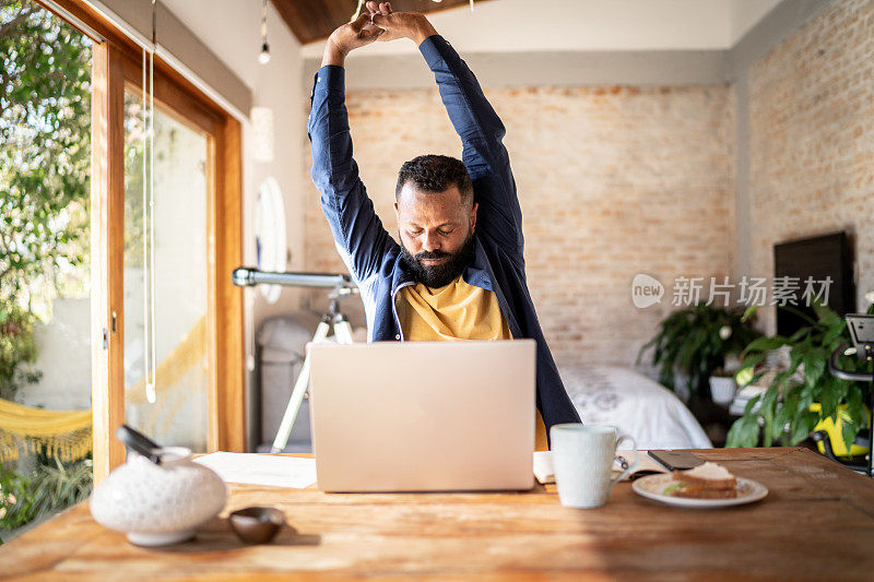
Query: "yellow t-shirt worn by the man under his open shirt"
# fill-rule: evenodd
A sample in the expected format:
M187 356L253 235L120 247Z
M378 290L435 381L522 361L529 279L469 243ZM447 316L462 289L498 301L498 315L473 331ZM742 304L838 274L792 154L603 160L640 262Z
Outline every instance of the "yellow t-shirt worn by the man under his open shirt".
M470 285L459 275L445 287L432 289L422 283L398 293L398 318L404 340L440 342L451 340L512 340L495 294ZM546 428L536 415L538 451L547 450Z

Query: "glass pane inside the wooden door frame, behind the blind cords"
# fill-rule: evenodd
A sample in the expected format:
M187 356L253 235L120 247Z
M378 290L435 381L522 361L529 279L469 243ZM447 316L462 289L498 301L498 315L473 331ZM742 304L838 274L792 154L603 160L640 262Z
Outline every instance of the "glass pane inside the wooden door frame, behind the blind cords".
M125 418L156 442L205 452L211 147L209 135L156 104L154 152L150 155L145 112L142 94L128 87Z

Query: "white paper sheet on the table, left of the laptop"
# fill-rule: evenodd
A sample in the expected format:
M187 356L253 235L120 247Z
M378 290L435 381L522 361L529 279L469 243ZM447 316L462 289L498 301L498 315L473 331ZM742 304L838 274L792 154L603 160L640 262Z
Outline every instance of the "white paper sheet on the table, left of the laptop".
M316 483L316 460L218 451L194 459L226 483L270 485L303 489Z

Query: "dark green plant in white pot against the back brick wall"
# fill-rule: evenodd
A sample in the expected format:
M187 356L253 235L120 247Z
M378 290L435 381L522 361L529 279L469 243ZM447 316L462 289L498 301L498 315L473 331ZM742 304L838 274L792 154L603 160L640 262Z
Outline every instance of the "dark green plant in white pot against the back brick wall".
M725 367L729 355L739 355L758 336L743 309L698 304L668 316L656 336L640 348L637 363L652 348L659 382L676 391L680 370L687 377L689 394L709 394L710 376Z

